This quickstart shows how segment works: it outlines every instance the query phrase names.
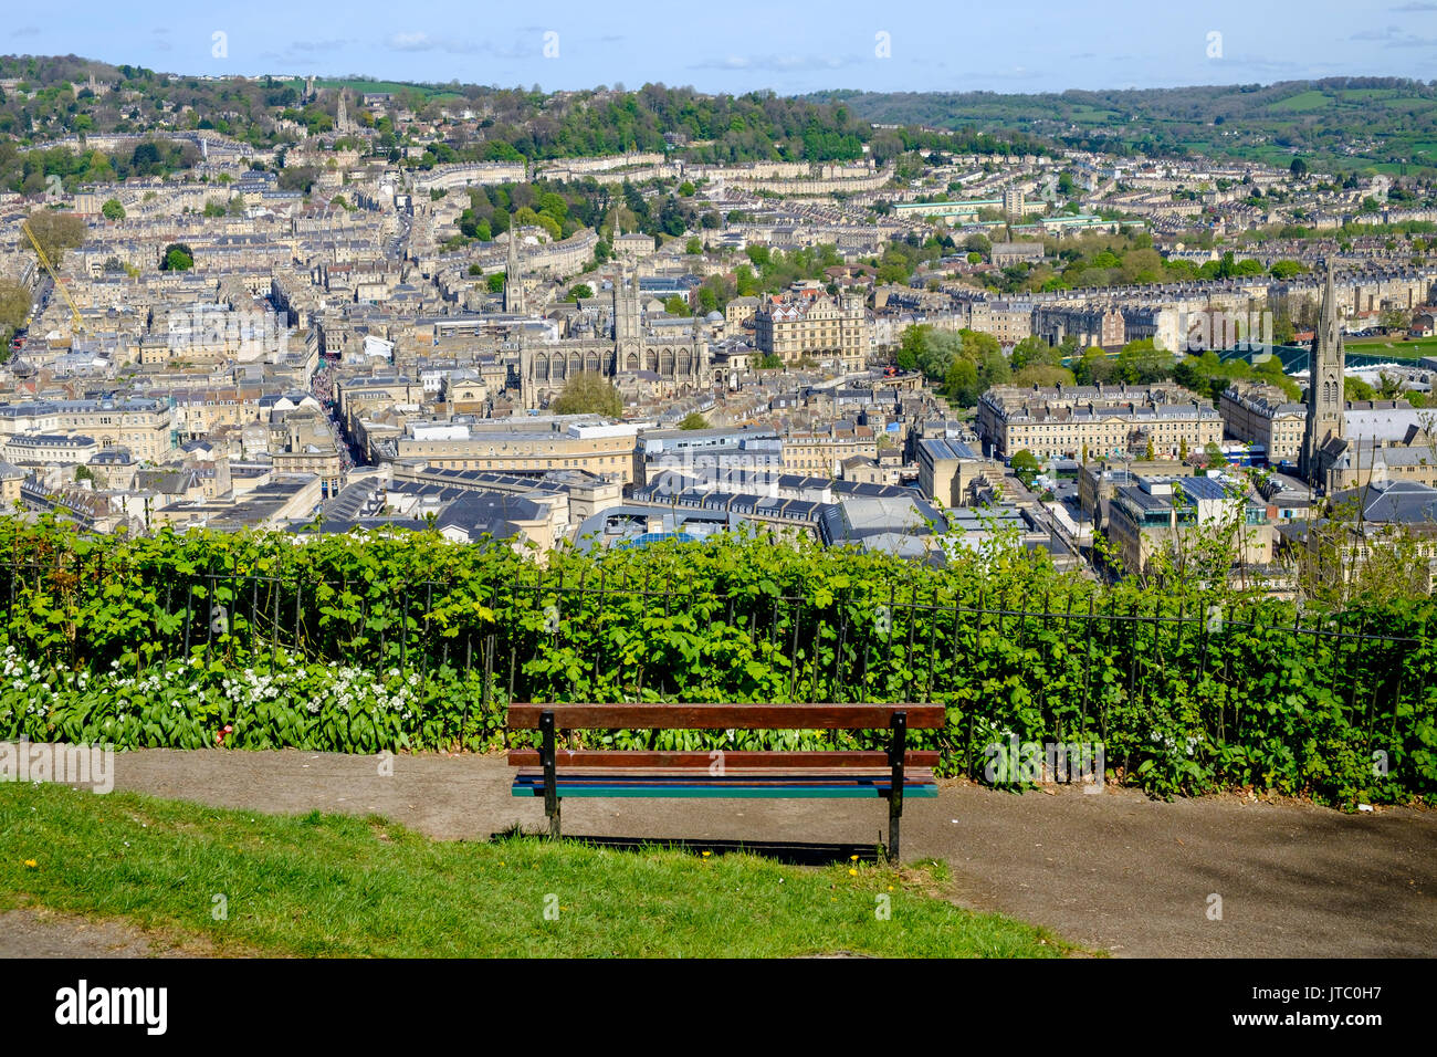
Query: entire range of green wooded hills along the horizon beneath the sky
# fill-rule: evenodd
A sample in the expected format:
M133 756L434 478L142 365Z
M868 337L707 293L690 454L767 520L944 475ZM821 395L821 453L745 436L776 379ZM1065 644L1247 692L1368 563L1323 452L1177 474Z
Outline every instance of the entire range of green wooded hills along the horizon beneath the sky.
M92 93L93 75L102 86ZM0 56L0 187L34 193L47 174L66 184L124 175L132 160L63 151L26 165L19 147L89 132L205 128L276 147L333 127L336 88L394 93L410 111L473 119L428 144L421 168L445 161L555 158L664 151L690 161L878 161L933 148L1230 157L1318 170L1437 175L1437 82L1331 78L1276 85L1002 95L996 92L829 91L710 95L644 85L542 93L523 88L410 85L361 76L322 79L318 99L297 78L200 78L66 56ZM118 88L119 92L105 91ZM137 95L132 95L137 93ZM142 101L144 105L137 105ZM372 148L399 157L404 132L355 106ZM874 128L897 125L898 128ZM924 129L941 129L943 134ZM674 144L681 144L675 147ZM178 164L178 161L175 161ZM161 168L170 165L162 160ZM121 171L124 170L124 171ZM145 174L145 173L141 173Z

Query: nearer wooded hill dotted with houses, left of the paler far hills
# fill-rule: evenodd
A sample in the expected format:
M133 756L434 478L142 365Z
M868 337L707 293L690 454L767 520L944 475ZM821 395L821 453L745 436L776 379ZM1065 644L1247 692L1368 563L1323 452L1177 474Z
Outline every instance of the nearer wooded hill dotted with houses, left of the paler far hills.
M95 79L95 91L89 88ZM842 104L773 92L707 95L693 88L644 85L637 91L596 88L535 92L487 85L408 85L366 78L326 78L306 93L300 78L207 78L66 56L0 56L0 187L26 194L60 175L66 186L124 175L155 175L182 157L144 168L134 158L95 157L69 145L24 160L22 147L86 134L148 134L214 129L256 148L280 147L333 131L338 88L355 93L352 115L372 129L365 139L391 161L401 157L405 129L382 111L362 105L365 93L391 93L420 118L441 121L443 141L425 139L428 168L453 161L562 158L627 151L673 152L697 163L888 161L934 145L966 152L1035 152L1048 147L1022 131L1004 137L907 135L874 129Z

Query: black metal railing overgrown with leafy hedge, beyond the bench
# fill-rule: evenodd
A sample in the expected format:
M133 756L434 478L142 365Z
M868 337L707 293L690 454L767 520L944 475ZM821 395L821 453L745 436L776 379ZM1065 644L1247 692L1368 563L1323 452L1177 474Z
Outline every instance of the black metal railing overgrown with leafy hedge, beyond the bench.
M79 555L0 564L0 634L55 666L180 657L483 673L509 700L911 700L951 709L963 769L999 728L1106 738L1144 713L1188 715L1216 745L1259 712L1336 708L1368 749L1433 708L1426 623L1305 614L1290 603L1197 608L1106 590L990 600L951 584L815 600L537 571L491 582L172 575ZM927 591L927 592L925 592ZM116 597L119 592L119 597ZM114 613L114 616L106 616ZM1423 618L1426 621L1426 618ZM468 706L466 705L466 709Z

